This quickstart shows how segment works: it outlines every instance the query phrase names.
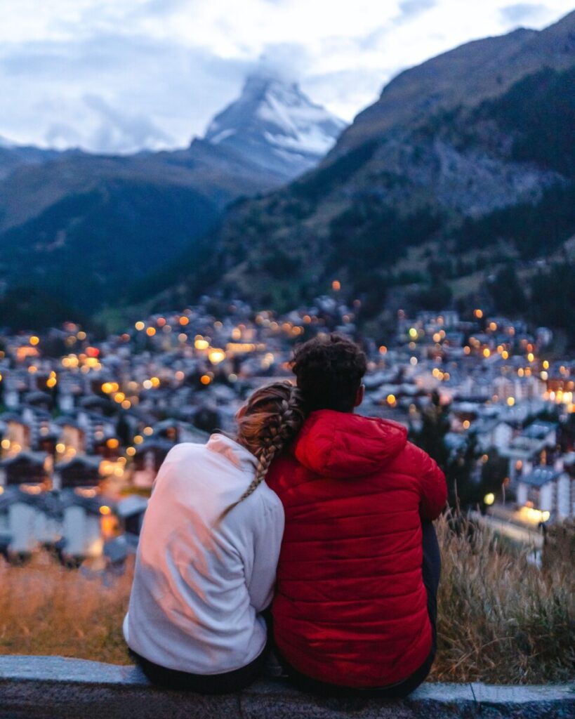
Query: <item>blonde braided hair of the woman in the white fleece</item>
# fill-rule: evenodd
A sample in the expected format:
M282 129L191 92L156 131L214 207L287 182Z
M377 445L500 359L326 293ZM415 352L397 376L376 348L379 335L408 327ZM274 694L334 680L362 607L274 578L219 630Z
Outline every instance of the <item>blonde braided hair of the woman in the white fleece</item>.
M295 439L304 419L300 391L290 382L275 382L251 395L244 413L237 418L237 441L257 457L257 470L244 494L221 513L220 519L257 490L272 460Z

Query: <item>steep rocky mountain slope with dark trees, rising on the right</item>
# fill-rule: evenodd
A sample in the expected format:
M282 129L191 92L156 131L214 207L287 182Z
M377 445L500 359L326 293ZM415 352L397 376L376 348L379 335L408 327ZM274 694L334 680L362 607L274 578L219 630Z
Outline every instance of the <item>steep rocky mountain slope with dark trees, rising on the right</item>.
M458 47L395 78L316 170L236 206L175 290L286 308L337 278L372 315L477 301L575 234L573 127L575 12Z

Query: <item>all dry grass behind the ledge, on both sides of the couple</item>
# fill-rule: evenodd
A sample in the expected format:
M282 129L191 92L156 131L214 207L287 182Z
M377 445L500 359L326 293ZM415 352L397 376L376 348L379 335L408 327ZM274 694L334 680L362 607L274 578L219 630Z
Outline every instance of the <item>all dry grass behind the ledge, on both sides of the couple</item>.
M541 572L487 531L438 522L443 575L431 679L498 684L574 678L573 557ZM570 545L571 546L571 545ZM1 560L0 560L1 561ZM41 554L0 565L0 654L58 654L130 664L121 635L132 566L90 579Z

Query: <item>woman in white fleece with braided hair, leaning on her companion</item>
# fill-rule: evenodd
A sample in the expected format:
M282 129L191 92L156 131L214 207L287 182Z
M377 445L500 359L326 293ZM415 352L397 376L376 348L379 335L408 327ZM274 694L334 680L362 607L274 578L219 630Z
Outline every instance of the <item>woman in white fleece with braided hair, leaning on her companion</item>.
M236 439L170 449L144 516L124 638L163 686L234 692L265 664L284 515L264 478L303 423L298 390L260 388L236 419Z

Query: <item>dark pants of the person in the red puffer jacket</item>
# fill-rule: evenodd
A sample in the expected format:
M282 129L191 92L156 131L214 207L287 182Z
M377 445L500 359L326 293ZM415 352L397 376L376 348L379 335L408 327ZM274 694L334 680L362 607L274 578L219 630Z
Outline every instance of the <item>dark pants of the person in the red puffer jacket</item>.
M423 564L421 570L423 574L423 584L427 590L427 610L431 622L432 634L431 651L423 664L421 664L418 669L415 669L413 674L403 679L402 682L397 682L397 684L390 684L387 687L377 687L373 689L357 689L357 687L340 687L337 684L328 684L328 682L320 682L317 679L306 677L305 674L301 674L297 669L291 667L290 664L280 656L277 649L275 649L278 654L278 659L285 669L285 673L288 674L290 682L293 682L293 684L304 691L326 696L345 695L349 697L353 695L360 697L369 696L382 697L384 699L401 699L407 697L408 694L417 689L417 687L425 681L431 670L433 659L435 659L436 656L437 590L439 587L439 576L441 574L441 554L439 552L439 545L433 523L423 521L422 530Z

